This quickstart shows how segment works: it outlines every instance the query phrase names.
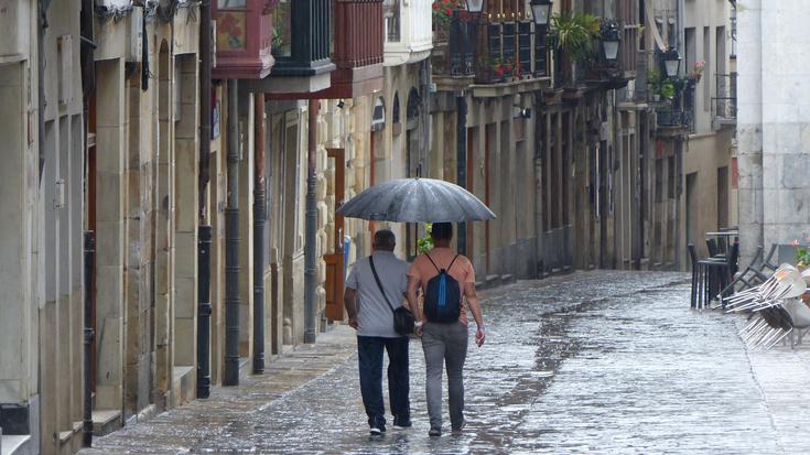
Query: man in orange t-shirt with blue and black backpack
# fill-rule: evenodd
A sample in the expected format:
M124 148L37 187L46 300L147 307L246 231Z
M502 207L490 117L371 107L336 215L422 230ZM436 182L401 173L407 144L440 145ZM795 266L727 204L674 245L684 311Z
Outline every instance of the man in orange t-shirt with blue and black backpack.
M475 293L475 270L469 259L450 248L453 225L434 223L431 228L434 248L414 259L408 270L408 303L417 319L417 335L422 337L426 369L430 436L442 435L442 370L447 369L451 430L464 429L464 361L467 356L467 311L477 325L475 342L486 339L480 303ZM423 307L418 292L422 290ZM466 304L465 304L466 302Z

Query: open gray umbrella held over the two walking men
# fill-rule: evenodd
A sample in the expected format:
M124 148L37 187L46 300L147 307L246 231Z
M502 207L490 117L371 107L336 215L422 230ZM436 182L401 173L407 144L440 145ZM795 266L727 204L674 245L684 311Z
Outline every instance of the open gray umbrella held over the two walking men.
M338 214L396 223L480 221L495 214L468 191L434 178L400 178L371 186Z

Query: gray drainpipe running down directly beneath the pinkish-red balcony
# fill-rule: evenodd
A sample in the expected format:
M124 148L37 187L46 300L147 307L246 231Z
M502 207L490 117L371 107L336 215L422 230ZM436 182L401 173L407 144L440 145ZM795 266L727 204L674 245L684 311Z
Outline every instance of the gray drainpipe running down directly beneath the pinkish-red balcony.
M236 79L228 80L228 208L225 209L225 378L239 384L239 112Z

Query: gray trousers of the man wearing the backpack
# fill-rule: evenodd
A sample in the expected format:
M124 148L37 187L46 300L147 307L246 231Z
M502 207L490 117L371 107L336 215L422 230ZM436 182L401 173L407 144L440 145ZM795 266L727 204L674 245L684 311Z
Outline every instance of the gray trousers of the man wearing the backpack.
M460 323L428 322L422 333L426 369L426 397L430 426L442 427L442 369L447 368L450 423L457 429L464 422L464 360L467 358L467 326Z

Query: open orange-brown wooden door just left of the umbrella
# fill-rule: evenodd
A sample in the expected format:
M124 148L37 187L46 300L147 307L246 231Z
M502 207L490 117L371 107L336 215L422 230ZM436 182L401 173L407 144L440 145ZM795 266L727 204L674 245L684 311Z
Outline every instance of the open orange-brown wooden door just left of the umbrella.
M335 210L343 205L346 184L346 153L344 149L326 149L326 155L335 160ZM372 164L374 166L374 164ZM326 262L326 317L343 321L343 290L346 281L343 251L343 215L335 214L335 250L324 256Z

